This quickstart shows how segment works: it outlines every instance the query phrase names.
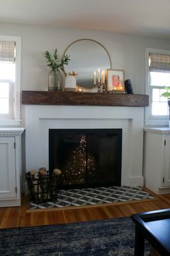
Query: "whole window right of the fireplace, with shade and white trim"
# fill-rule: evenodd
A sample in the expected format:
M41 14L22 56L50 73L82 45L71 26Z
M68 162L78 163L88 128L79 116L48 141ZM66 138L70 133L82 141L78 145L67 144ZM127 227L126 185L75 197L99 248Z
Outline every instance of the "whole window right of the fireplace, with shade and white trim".
M146 108L146 125L168 124L167 98L161 96L167 86L170 86L170 51L147 49L146 94L149 95L149 106Z

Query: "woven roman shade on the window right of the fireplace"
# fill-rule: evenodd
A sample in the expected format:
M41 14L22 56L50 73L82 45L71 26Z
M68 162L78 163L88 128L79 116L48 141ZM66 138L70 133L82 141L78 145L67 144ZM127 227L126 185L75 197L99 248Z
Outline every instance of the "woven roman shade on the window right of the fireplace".
M170 72L169 54L149 54L149 70L153 72Z

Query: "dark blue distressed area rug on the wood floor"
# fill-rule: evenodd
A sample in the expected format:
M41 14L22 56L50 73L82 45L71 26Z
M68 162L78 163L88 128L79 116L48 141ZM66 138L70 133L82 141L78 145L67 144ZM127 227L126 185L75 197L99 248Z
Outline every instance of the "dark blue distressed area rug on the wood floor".
M0 229L0 255L130 256L134 239L131 218ZM150 252L146 242L145 256Z

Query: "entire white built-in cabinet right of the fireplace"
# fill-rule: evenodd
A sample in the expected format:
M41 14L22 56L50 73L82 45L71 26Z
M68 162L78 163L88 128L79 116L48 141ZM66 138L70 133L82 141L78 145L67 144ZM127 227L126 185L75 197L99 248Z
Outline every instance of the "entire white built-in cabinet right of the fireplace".
M156 194L170 192L170 128L144 129L144 185Z

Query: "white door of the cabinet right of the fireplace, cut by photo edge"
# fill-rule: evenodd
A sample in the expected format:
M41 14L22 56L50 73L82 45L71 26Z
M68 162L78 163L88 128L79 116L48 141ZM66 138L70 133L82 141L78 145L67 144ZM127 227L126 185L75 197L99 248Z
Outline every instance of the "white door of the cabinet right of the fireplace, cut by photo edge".
M166 136L164 151L163 186L170 187L170 136Z

